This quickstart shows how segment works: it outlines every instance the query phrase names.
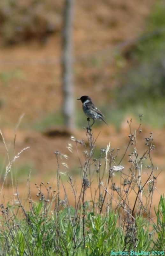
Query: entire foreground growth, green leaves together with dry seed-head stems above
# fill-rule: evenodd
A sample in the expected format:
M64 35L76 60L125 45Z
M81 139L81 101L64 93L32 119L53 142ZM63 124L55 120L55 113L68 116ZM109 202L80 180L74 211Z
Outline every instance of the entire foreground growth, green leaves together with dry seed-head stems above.
M144 152L138 151L137 133L142 134L141 121L142 115L134 132L132 120L128 121L129 141L122 157L118 156L118 148L111 148L108 144L94 158L97 139L94 139L90 125L85 130L87 142L71 137L77 152L81 151L84 157L84 161L79 158L82 179L79 190L68 171L68 156L59 151L54 152L57 161L55 188L50 182L36 183L38 202L34 202L29 176L29 195L23 203L17 186L17 204L0 205L0 254L108 256L119 251L159 250L164 255L165 201L161 196L158 210L155 209L157 222L153 223L151 205L158 173L154 171L151 154L155 146L150 132L144 139ZM67 149L73 152L70 142ZM21 153L13 158L6 170L12 168ZM129 159L126 170L121 165L124 158ZM61 166L68 177L71 200L68 199ZM147 175L144 175L144 170ZM5 179L7 175L8 172ZM116 176L120 177L120 185L115 183ZM94 180L97 183L93 185Z

